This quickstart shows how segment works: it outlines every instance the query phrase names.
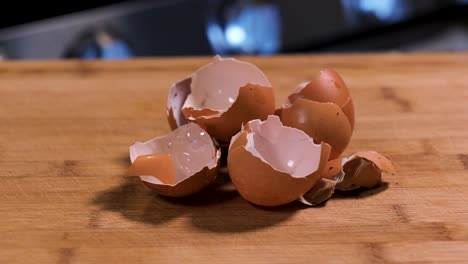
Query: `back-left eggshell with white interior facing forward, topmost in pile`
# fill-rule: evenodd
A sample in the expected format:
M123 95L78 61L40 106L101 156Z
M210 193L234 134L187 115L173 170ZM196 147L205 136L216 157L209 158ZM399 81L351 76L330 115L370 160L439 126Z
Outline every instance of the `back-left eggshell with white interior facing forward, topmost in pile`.
M218 142L229 142L242 124L264 120L275 111L273 89L253 64L216 56L169 92L171 128L195 122Z

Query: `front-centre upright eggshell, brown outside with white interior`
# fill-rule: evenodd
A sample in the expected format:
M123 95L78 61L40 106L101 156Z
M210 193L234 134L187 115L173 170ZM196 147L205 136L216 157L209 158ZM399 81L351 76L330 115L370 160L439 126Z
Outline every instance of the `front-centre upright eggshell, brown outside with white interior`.
M228 169L246 200L278 206L297 200L319 180L330 146L315 144L303 131L283 126L277 116L252 120L231 141Z

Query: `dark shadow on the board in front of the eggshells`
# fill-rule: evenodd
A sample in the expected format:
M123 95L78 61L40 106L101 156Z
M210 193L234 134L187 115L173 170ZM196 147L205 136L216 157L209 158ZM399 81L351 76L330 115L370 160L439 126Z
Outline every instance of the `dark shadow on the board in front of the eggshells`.
M194 228L211 232L248 232L280 224L298 210L308 208L299 203L275 208L252 205L229 188L227 175L220 175L207 190L183 198L160 196L137 177L124 179L122 185L98 193L93 204L101 210L119 212L132 221L153 225L188 217Z

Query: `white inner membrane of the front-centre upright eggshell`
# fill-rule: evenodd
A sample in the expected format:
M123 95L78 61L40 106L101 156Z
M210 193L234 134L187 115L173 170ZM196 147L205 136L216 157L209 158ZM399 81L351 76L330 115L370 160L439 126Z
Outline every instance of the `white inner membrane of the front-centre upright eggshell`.
M317 171L322 145L315 144L303 131L283 126L274 115L263 122L251 121L250 128L246 150L273 169L294 178L304 178Z

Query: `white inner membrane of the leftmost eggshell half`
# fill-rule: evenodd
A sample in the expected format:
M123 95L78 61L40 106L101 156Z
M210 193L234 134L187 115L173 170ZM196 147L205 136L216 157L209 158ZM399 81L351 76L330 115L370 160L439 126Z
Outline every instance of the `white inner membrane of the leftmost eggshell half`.
M161 153L169 154L174 160L176 166L174 185L205 167L209 169L216 167L221 156L221 152L216 150L208 133L197 124L188 123L165 136L135 143L130 147L130 160L133 163L138 156ZM153 184L165 184L153 176L141 175L140 179Z

